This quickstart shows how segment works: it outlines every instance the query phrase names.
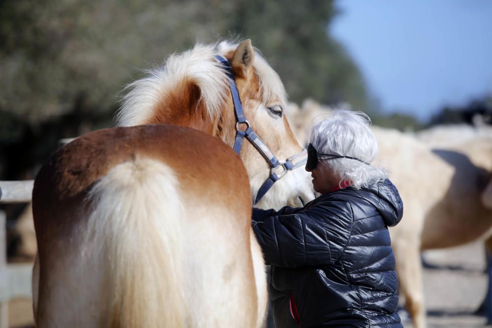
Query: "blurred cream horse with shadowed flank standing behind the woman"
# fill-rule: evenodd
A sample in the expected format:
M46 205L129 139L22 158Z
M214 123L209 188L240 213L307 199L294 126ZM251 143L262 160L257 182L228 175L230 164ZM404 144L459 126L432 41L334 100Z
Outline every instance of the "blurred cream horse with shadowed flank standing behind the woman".
M294 110L291 119L298 140L307 142L313 119L324 118L332 110L313 101ZM436 141L441 147L432 149L394 129L372 126L371 130L378 140L377 161L385 164L404 204L403 219L390 229L400 295L414 327L425 328L420 253L489 238L486 248L492 254L491 135L482 128L478 135L461 135L461 140L466 139L463 143L442 147L450 137L441 132ZM455 133L456 128L451 131ZM420 138L426 135L423 132Z

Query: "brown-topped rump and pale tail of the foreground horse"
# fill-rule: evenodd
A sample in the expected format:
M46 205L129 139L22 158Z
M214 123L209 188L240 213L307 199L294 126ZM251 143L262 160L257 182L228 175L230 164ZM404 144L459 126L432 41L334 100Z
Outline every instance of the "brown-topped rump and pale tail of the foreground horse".
M76 139L35 180L37 326L252 326L250 202L239 157L199 131Z

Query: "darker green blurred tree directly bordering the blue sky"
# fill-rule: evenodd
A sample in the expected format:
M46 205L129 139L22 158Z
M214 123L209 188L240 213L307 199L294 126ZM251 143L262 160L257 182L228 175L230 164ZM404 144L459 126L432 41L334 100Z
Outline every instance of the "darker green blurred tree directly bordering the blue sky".
M338 14L333 1L238 0L231 31L253 40L282 78L292 101L311 97L366 109L364 81L341 45L328 33Z

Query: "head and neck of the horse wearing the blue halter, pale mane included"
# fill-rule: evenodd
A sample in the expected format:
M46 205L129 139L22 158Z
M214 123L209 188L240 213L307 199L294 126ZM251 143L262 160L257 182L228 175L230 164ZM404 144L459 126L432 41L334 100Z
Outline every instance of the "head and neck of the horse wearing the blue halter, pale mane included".
M217 56L228 60L225 62L230 71ZM237 124L230 77L239 91L248 123ZM149 77L134 82L129 89L119 113L119 125L183 125L210 133L233 147L236 127L244 131L249 124L254 135L264 142L257 143L255 148L253 142L245 141L240 150L253 199L272 172L281 176L256 206L302 206L314 198L304 165L282 172L283 161L302 149L283 115L285 89L277 73L255 53L249 40L239 45L196 45L181 55L169 57L165 66L150 71ZM275 169L271 170L265 158L269 155L257 150L264 146L280 163Z

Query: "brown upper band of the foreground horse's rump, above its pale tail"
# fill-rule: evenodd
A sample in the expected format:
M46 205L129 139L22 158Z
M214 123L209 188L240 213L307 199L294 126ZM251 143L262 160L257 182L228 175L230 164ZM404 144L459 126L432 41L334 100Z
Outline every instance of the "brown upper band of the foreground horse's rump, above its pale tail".
M240 158L218 139L186 127L141 125L98 130L59 149L39 171L34 196L49 203L69 201L87 192L114 166L139 156L166 163L176 171L183 185L193 185L188 191L223 204L237 202L229 203L221 194L211 195L199 189L203 184L211 189L227 189L248 183ZM240 189L243 192L237 197L239 202L250 198L248 188Z

